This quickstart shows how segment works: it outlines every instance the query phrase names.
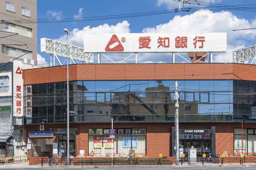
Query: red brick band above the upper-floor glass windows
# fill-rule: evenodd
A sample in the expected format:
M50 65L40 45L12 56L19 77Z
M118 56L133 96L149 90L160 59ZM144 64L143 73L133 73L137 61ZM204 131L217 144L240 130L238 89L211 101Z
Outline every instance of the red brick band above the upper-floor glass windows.
M69 65L69 80L256 80L255 69L256 65L232 63L77 64ZM67 81L67 66L23 70L23 79L24 85Z

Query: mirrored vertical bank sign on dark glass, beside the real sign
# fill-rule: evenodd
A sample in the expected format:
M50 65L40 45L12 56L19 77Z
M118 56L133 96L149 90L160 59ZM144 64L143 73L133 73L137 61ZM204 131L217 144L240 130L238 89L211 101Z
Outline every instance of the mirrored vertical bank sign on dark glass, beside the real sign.
M32 92L32 85L27 85L25 90L25 116L26 117L32 117L32 97L31 97L31 92Z

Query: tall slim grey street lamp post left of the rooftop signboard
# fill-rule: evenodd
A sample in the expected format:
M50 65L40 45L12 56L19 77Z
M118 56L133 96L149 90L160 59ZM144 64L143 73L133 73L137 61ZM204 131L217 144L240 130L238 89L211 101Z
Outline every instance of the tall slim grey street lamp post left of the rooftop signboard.
M67 164L69 165L69 84L68 84L68 30L65 28L65 32L67 32Z

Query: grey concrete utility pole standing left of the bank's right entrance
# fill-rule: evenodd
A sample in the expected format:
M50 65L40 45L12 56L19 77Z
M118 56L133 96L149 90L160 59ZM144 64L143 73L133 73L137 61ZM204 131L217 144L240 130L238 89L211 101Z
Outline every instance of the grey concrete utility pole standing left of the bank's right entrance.
M179 148L179 93L178 93L178 81L175 81L175 136L176 136L176 164L179 163L180 159L180 148Z

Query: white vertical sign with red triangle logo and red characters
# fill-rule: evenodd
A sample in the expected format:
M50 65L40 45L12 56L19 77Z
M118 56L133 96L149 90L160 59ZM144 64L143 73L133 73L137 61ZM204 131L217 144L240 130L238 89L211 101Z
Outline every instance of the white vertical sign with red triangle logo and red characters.
M13 61L13 116L23 116L22 62Z

